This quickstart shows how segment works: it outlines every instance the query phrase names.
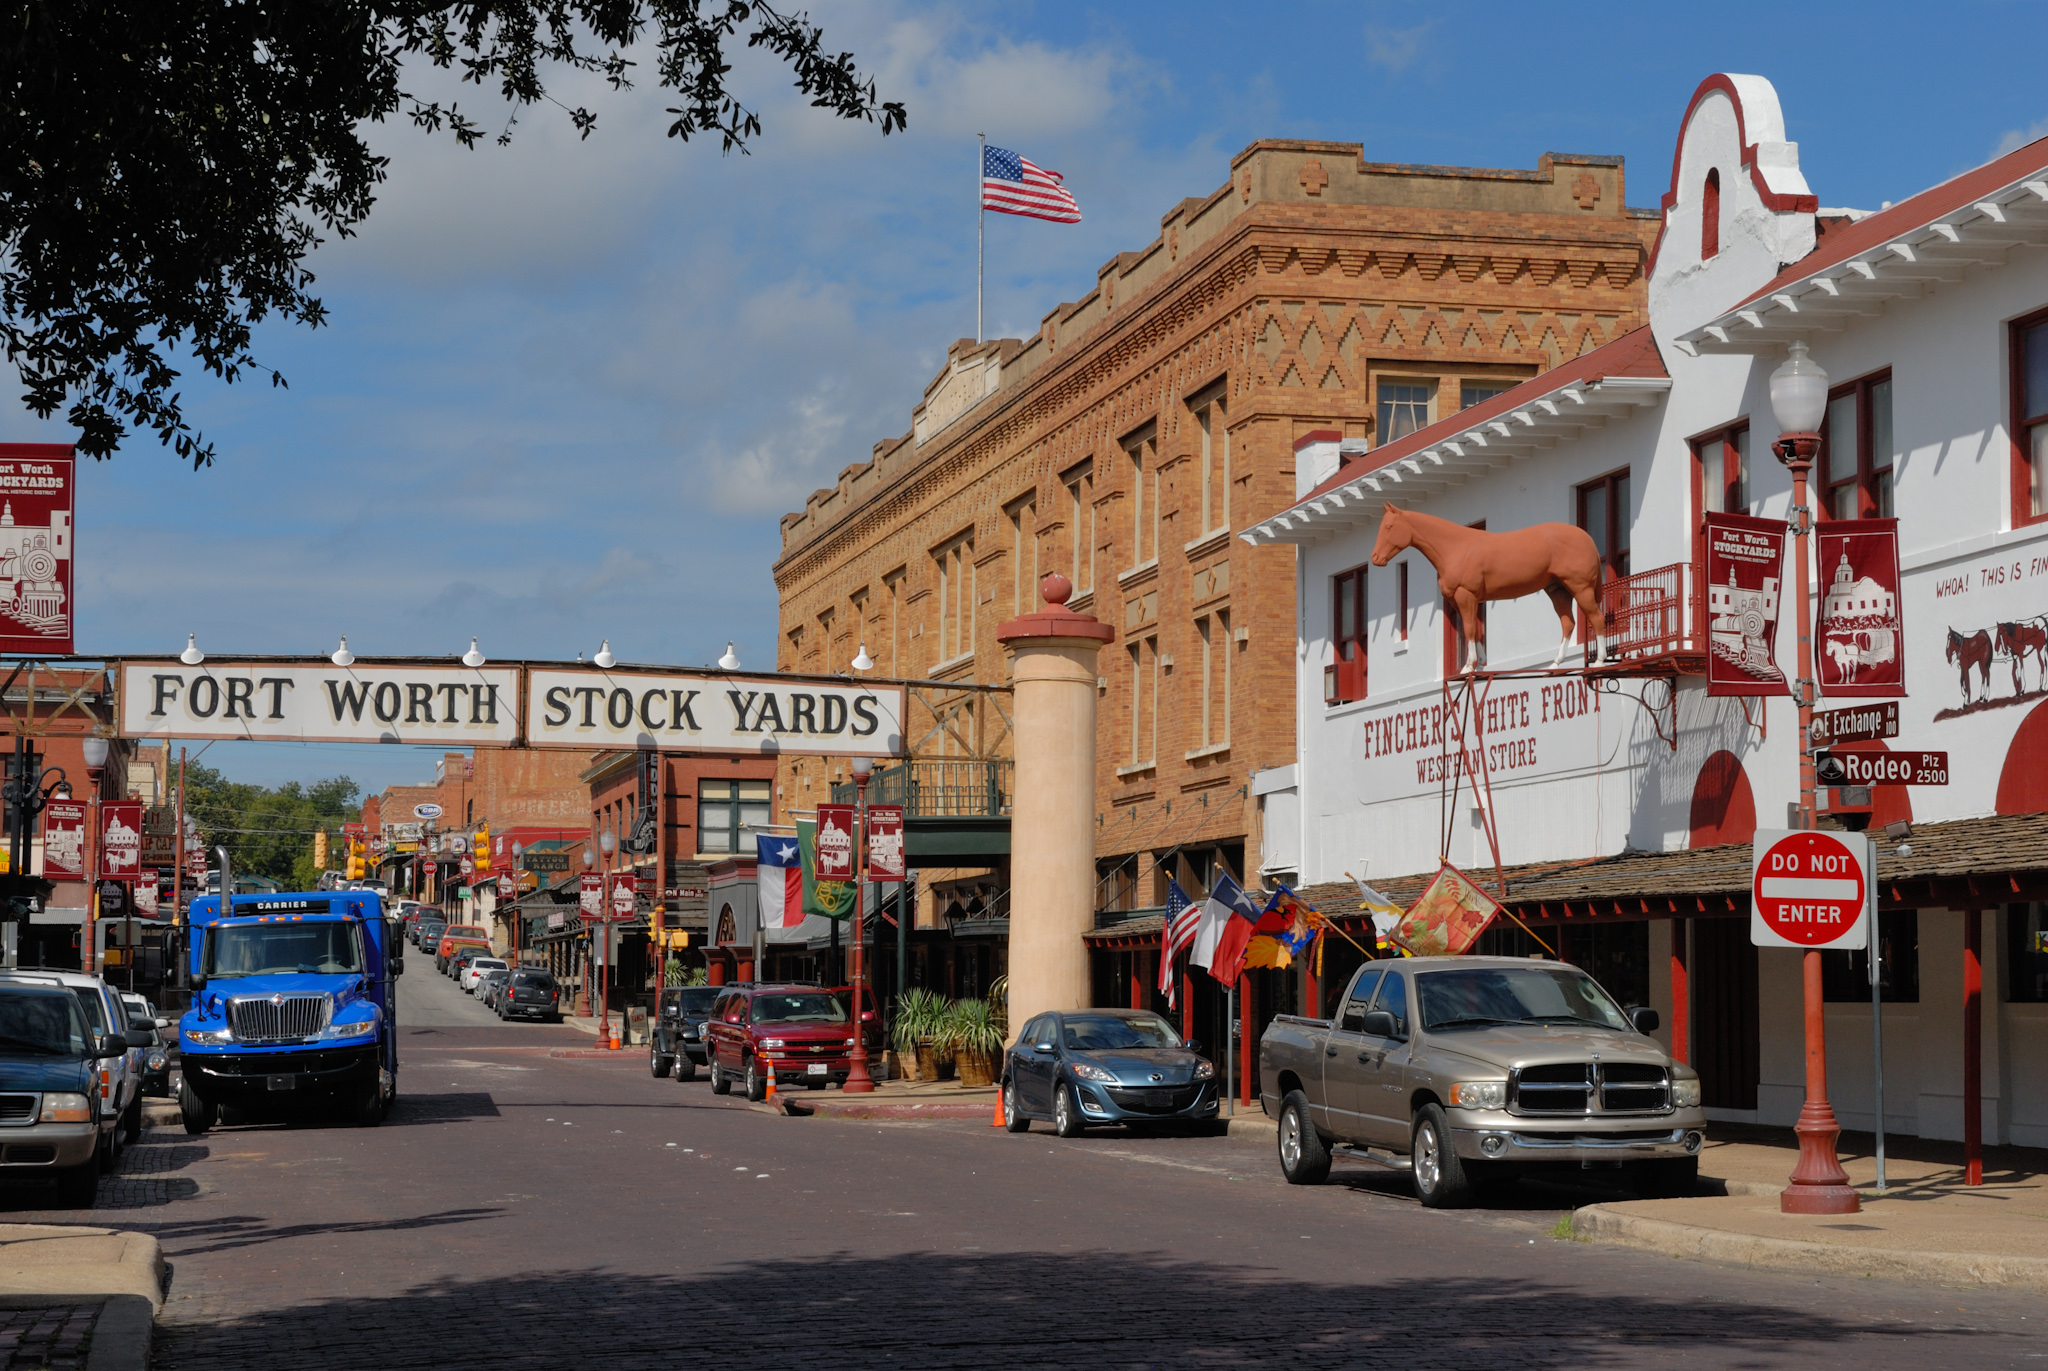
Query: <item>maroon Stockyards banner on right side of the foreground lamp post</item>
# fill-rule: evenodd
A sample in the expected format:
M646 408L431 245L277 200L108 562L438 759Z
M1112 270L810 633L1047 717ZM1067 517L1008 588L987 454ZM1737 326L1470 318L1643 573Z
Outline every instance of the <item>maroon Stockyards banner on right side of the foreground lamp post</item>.
M1898 521L1815 525L1821 611L1812 625L1821 695L1905 695L1905 621L1898 607Z

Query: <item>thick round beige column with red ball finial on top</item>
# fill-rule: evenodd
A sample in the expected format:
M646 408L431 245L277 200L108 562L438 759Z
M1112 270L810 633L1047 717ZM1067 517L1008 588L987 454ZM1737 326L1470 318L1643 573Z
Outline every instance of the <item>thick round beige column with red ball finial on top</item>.
M1096 916L1096 656L1116 633L1069 611L1073 584L1038 582L1047 607L995 629L1016 654L1010 809L1010 1029L1083 1008Z

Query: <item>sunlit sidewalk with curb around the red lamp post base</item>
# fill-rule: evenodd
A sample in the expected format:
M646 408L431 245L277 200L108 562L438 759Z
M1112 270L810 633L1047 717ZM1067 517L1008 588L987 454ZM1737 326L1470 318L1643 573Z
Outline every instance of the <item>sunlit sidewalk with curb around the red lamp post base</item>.
M1868 1133L1843 1133L1841 1164L1862 1213L1792 1215L1778 1193L1798 1146L1790 1129L1716 1125L1696 1199L1587 1205L1571 1230L1591 1242L1735 1262L1937 1285L2048 1291L2048 1152L1985 1148L1985 1185L1962 1185L1962 1144L1886 1139L1876 1189Z

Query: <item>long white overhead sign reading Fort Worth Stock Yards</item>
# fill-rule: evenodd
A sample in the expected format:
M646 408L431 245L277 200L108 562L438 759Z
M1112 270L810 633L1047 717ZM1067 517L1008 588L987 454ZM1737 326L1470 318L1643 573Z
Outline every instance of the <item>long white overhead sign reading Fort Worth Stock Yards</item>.
M123 738L664 752L903 750L903 687L598 666L121 662Z

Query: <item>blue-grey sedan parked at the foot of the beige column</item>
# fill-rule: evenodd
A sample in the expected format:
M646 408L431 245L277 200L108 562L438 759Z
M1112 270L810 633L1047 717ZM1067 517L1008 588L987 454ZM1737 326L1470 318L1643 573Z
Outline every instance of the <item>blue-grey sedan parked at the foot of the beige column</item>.
M1159 1014L1087 1008L1038 1014L1004 1055L1004 1121L1051 1119L1061 1137L1092 1123L1217 1117L1217 1068Z

